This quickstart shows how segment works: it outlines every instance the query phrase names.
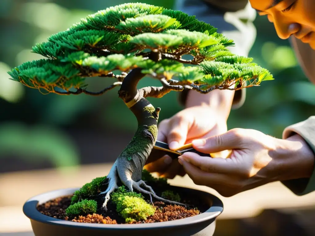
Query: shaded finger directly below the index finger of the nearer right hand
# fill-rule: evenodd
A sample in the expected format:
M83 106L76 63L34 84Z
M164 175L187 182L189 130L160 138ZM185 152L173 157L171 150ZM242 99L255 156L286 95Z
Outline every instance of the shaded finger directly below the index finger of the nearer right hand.
M226 174L222 173L208 173L196 166L193 166L189 162L179 159L180 164L184 167L188 176L197 185L205 185L211 187L212 185L219 184L225 186L234 187L236 185L236 180Z

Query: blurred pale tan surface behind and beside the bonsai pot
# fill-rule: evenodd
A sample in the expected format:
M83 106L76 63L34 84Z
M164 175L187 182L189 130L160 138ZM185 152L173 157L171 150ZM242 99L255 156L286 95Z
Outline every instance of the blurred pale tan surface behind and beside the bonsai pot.
M107 175L111 166L112 163L0 174L0 236L8 235L4 233L31 231L30 221L22 211L27 199L59 188L81 187L95 177ZM211 188L194 184L187 175L169 180L169 183L200 189L218 196L224 204L224 211L218 219L256 216L264 209L315 206L315 192L296 196L279 182L269 183L229 198L222 197Z

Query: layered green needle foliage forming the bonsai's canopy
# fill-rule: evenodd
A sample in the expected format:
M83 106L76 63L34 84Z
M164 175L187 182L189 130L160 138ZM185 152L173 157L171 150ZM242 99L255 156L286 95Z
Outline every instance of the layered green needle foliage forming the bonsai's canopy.
M241 89L272 80L268 70L252 58L232 54L234 42L195 16L145 3L125 3L88 15L66 31L37 43L32 52L47 59L23 63L9 71L31 88L56 93L85 89L91 76L124 76L135 68L176 85ZM159 53L158 61L148 51ZM183 60L190 54L192 60ZM184 64L191 64L184 66ZM112 71L120 70L120 76ZM249 81L246 86L245 81Z

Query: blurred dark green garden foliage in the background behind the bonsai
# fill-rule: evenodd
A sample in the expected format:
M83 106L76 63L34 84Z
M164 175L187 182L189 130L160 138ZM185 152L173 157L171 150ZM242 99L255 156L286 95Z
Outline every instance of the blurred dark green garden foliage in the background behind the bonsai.
M165 8L174 3L141 2ZM110 162L130 141L137 122L118 98L118 88L99 97L43 95L7 74L23 62L43 58L31 53L36 42L121 3L126 1L0 1L0 172ZM286 126L314 114L315 86L303 74L288 40L277 37L267 18L257 16L254 23L259 30L249 56L276 79L247 89L245 104L231 112L228 128L253 128L280 138ZM97 91L113 80L88 81L90 90ZM159 83L145 78L139 87L148 85ZM150 99L161 107L160 121L182 109L177 96L171 92Z

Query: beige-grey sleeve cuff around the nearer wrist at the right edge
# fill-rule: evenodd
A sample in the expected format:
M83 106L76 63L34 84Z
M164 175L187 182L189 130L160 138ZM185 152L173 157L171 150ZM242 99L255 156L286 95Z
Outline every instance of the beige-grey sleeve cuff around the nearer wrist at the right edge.
M309 117L305 121L288 126L284 129L282 138L288 138L293 134L299 134L315 153L315 116ZM311 178L293 179L282 181L296 195L305 195L315 190L315 170Z

